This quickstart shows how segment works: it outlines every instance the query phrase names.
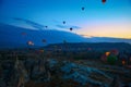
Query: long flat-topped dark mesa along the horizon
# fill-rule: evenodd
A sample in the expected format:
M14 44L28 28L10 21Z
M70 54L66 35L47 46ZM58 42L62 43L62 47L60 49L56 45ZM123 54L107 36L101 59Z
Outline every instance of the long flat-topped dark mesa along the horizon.
M61 48L61 49L79 49L79 50L111 50L111 49L118 49L118 50L131 50L131 45L126 42L78 42L78 44L55 44L49 45L46 48Z

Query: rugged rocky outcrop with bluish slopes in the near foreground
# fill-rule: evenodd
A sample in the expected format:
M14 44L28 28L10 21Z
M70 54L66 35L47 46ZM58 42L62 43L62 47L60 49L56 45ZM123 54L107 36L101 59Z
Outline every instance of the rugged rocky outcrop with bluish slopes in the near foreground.
M31 80L36 84L52 84L53 79L56 83L58 79L72 80L80 86L116 86L116 78L104 71L70 61L55 59L26 59L20 61L16 59L15 61L4 60L0 65L0 87L21 87Z

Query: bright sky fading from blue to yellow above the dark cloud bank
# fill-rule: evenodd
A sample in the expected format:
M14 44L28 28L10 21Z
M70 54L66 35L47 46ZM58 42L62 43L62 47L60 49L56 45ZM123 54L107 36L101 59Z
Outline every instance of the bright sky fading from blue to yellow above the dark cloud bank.
M131 39L131 0L0 0L0 23L36 29L15 17L86 37Z

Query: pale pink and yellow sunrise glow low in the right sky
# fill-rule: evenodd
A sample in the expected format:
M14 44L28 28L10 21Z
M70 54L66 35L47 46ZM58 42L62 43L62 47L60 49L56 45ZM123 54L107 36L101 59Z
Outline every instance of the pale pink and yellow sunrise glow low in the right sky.
M131 25L129 22L121 23L95 23L85 25L83 30L76 30L79 35L84 37L112 37L131 39ZM92 28L92 29L91 29Z

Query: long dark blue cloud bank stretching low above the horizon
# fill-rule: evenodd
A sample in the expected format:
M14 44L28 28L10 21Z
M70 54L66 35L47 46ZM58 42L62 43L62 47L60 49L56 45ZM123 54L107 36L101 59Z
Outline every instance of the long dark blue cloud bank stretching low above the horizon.
M31 48L31 46L27 45L27 41L34 42L34 46L32 47L43 47L49 44L63 44L63 42L103 42L100 45L88 44L87 46L94 47L95 45L95 47L97 46L105 47L107 45L109 48L114 48L114 46L111 46L110 44L108 45L105 42L131 44L131 39L106 38L106 37L84 38L80 35L69 32L55 29L35 30L7 24L0 24L0 49ZM83 46L84 48L84 44L79 45ZM118 47L119 45L115 46ZM123 47L124 44L120 46Z

